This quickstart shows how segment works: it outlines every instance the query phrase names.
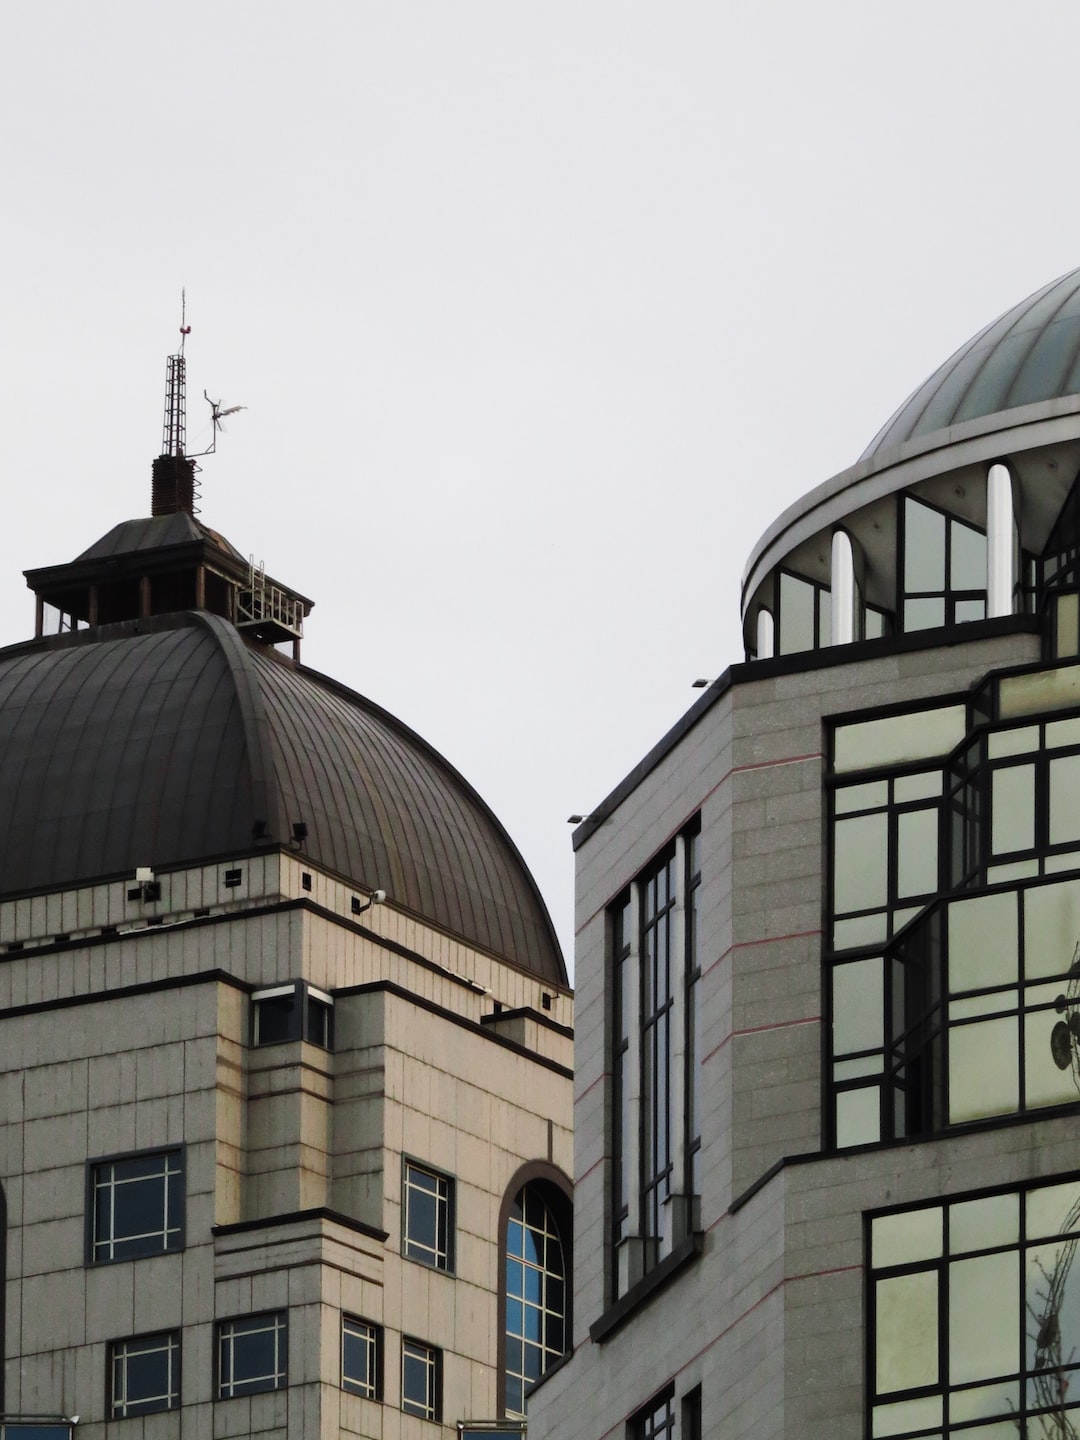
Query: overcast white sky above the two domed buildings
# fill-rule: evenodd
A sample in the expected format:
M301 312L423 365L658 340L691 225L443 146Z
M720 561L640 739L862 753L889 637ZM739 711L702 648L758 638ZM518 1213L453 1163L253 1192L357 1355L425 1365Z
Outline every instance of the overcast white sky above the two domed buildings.
M0 49L0 644L150 508L187 287L249 409L202 518L304 660L572 811L742 660L769 521L1080 264L1076 0L36 0Z

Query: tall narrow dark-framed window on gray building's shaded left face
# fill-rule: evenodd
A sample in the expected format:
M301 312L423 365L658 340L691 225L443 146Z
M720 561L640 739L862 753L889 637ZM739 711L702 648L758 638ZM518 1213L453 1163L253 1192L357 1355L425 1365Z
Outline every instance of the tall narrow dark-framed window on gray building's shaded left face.
M700 881L696 821L611 907L616 1296L694 1225Z

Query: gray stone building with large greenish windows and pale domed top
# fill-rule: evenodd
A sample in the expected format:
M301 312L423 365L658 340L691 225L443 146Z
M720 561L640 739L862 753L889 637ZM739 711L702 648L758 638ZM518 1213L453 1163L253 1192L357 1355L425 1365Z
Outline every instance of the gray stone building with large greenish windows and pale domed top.
M1079 477L1076 271L776 520L576 831L590 1344L531 1440L1080 1433Z

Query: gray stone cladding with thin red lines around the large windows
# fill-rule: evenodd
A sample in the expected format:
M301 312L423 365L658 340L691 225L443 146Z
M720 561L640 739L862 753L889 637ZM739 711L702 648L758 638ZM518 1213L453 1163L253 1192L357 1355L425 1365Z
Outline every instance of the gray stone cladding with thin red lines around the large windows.
M864 1211L1076 1165L1066 1120L821 1153L824 721L1035 660L1014 634L750 672L580 845L576 1344L530 1401L530 1440L622 1440L670 1382L677 1405L703 1387L704 1436L860 1440ZM612 1305L606 907L698 814L704 1250L592 1339Z

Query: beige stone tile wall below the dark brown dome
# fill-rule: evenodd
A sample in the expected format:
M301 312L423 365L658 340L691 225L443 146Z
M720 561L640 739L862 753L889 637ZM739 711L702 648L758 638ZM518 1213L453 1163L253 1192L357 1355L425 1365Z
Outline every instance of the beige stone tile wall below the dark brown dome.
M446 1433L490 1418L500 1205L523 1162L573 1168L572 996L390 906L356 924L291 855L236 864L242 893L206 867L153 906L0 906L6 1410L104 1437L108 1342L181 1328L183 1408L125 1431L429 1436L399 1410L402 1333L444 1351ZM330 913L281 907L312 899ZM336 994L334 1051L253 1048L251 989L298 978ZM160 1146L184 1148L184 1250L86 1266L88 1161ZM402 1256L403 1153L454 1178L452 1274ZM288 1390L215 1403L215 1319L278 1308ZM343 1312L384 1326L382 1404L341 1391Z

